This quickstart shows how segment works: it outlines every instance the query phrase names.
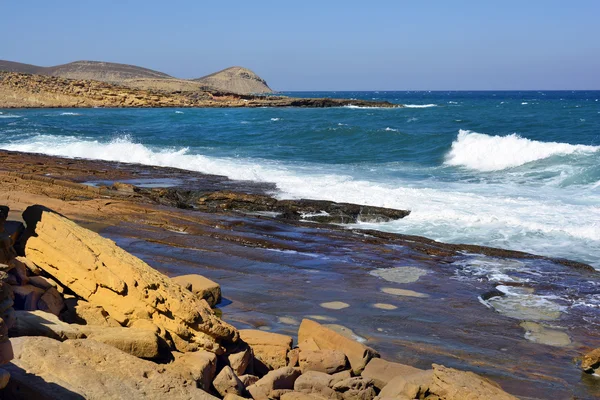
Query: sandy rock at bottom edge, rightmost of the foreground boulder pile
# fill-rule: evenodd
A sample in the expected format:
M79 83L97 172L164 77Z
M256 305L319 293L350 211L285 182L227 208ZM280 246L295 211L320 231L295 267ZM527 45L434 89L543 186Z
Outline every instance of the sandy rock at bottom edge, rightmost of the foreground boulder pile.
M495 382L473 372L437 364L433 364L433 379L429 391L444 400L517 400Z

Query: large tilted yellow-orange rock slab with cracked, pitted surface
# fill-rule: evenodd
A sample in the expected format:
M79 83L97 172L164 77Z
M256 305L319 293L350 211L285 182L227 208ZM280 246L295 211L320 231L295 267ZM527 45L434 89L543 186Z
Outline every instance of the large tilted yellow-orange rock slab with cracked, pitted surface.
M28 207L23 219L27 258L120 324L149 320L180 351L220 353L221 341L238 339L235 328L217 318L205 301L114 242L42 206Z

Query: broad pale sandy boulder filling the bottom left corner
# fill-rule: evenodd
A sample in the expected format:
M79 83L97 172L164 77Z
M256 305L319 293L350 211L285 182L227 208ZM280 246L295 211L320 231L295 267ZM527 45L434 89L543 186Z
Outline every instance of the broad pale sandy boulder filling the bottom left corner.
M215 399L168 368L93 340L13 339L4 395L14 399Z

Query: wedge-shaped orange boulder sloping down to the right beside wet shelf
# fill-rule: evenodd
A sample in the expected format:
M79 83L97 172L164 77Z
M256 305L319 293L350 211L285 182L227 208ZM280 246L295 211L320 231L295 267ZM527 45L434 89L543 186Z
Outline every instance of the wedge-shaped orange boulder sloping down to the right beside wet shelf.
M352 371L358 375L379 353L364 344L348 339L309 319L302 320L298 330L298 343L312 339L321 350L338 350L346 355Z

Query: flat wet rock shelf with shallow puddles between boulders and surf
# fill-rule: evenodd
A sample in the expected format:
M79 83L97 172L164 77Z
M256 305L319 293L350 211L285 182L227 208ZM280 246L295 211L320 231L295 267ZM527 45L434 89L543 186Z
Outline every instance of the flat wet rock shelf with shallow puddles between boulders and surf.
M73 161L76 164L60 170L57 167L64 164L53 165L53 159L46 158L36 173L47 168L62 171L71 182L90 180L93 174L84 172L86 161ZM26 157L22 164L35 168ZM106 176L97 173L95 179L134 179L127 168L135 170L125 166ZM194 182L193 174L181 174ZM310 316L349 328L348 335L388 361L420 369L438 363L475 371L522 397L548 398L552 393L553 398L591 399L600 393L590 380L594 377L582 376L573 362L584 348L600 346L600 316L593 306L598 273L583 264L314 222L166 208L135 192L75 183L45 182L42 190L39 180L10 174L0 174L0 180L7 190L0 194L0 203L10 203L11 213L17 213L12 215L18 216L32 199L43 200L167 275L199 273L218 282L223 291L220 312L238 328L296 338L295 322ZM427 273L411 282L371 274L398 268ZM570 344L551 346L525 338L521 324L533 322L526 319L532 315L529 308L509 314L491 301L519 295L510 288L526 288L533 300L555 307L556 319L537 323L566 333ZM404 290L423 296L396 294ZM331 302L348 307L320 305ZM397 308L377 309L373 304ZM525 327L531 330L532 325ZM289 393L277 395L294 398Z

